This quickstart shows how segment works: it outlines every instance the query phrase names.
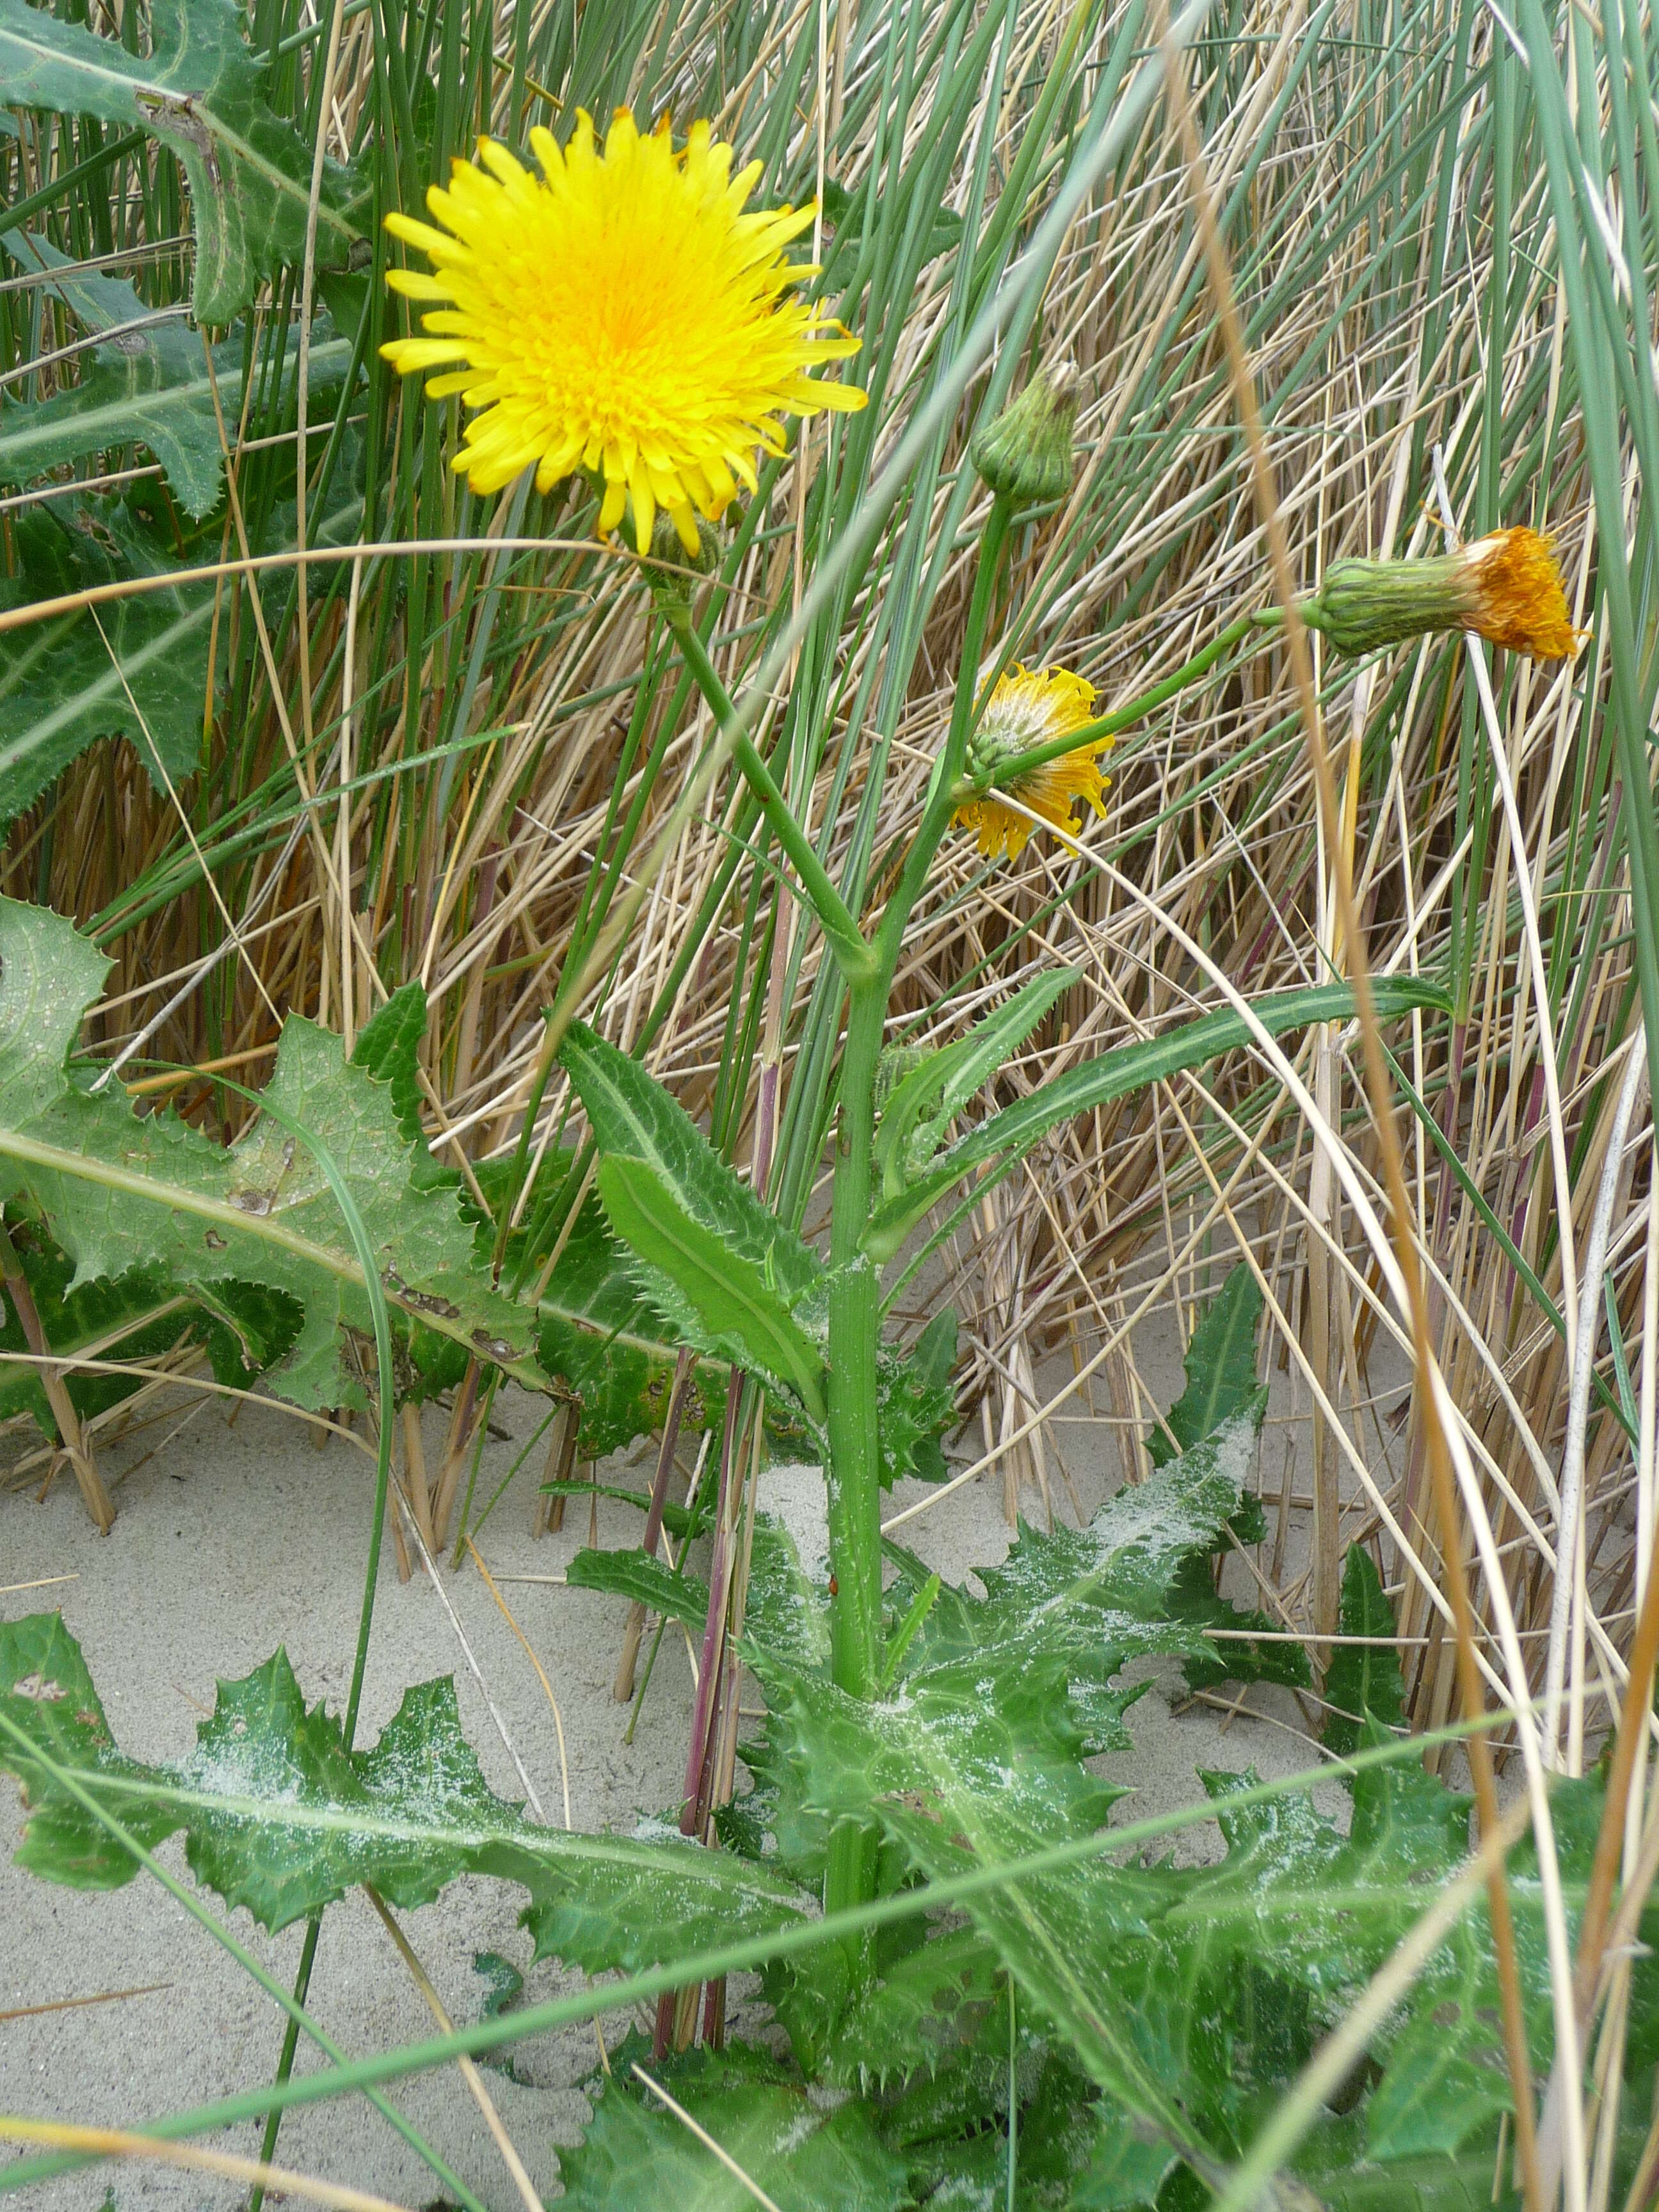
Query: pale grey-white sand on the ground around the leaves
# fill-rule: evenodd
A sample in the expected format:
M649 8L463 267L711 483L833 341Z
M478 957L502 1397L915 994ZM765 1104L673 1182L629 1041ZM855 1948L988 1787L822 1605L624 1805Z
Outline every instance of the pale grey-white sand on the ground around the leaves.
M1139 1343L1137 1343L1139 1352ZM1179 1389L1170 1358L1148 1363L1161 1402ZM529 1436L540 1407L509 1400L500 1420ZM159 1429L106 1449L104 1467L119 1478L166 1436ZM1117 1449L1104 1427L1060 1429L1062 1451L1095 1509L1117 1482ZM427 1416L427 1449L436 1453L440 1416ZM513 1447L491 1442L480 1498L511 1464ZM1270 1451L1267 1489L1279 1486L1281 1447ZM504 1575L553 1575L588 1537L588 1511L571 1509L562 1535L533 1542L531 1504L540 1480L540 1447L482 1537L491 1568ZM641 1484L641 1471L622 1475ZM783 1509L810 1546L816 1478L781 1473L768 1502ZM204 1409L166 1449L117 1489L119 1520L100 1540L73 1482L60 1475L49 1500L0 1493L0 1584L73 1575L58 1588L0 1595L2 1617L60 1606L80 1639L119 1745L139 1759L179 1759L195 1725L212 1708L215 1677L239 1677L288 1646L310 1701L345 1701L361 1601L361 1559L374 1495L374 1462L332 1442L319 1451L307 1431L276 1409L248 1407L230 1425ZM907 1498L920 1495L916 1486ZM1055 1500L1068 1511L1062 1484ZM1026 1498L1035 1511L1035 1498ZM630 1544L639 1515L602 1502L599 1542ZM947 1577L993 1562L1006 1548L1002 1493L995 1475L980 1478L936 1513L911 1522L911 1542ZM469 1568L447 1577L447 1590L489 1683L493 1703L551 1818L560 1818L560 1752L542 1688L511 1630ZM670 1630L635 1743L622 1743L626 1712L611 1699L622 1635L622 1606L564 1586L511 1584L513 1604L535 1644L562 1705L568 1747L571 1809L577 1827L626 1827L639 1812L679 1805L686 1754L690 1672L684 1639ZM522 1787L491 1723L484 1697L467 1670L436 1593L420 1573L396 1579L385 1546L374 1619L374 1646L363 1699L361 1741L396 1710L403 1688L431 1674L456 1674L462 1725L491 1785L509 1798ZM754 1703L748 1694L745 1703ZM1252 1703L1292 1723L1223 1717L1194 1708L1179 1719L1159 1688L1130 1714L1133 1759L1108 1772L1133 1783L1137 1798L1119 1818L1192 1803L1194 1767L1243 1767L1283 1774L1310 1765L1314 1752L1294 1728L1298 1708L1279 1692L1252 1692ZM15 1790L0 1781L0 1805L15 1818ZM1190 1832L1194 1843L1210 1829ZM170 1843L164 1863L184 1874L184 1851ZM219 1900L201 1893L219 1911ZM453 1882L445 1896L405 1916L407 1936L456 2022L480 2015L487 1984L473 1953L500 1951L526 1966L529 1938L518 1927L522 1893L484 1880ZM265 1938L246 1911L230 1916L237 1938L285 1984L299 1960L299 1927ZM0 2015L60 2004L104 1991L164 1984L148 1995L0 2017L0 2112L135 2126L270 2079L281 2044L281 2015L248 1975L199 1929L159 1885L139 1876L113 1893L82 1893L42 1882L0 1858ZM526 1997L575 1986L575 1978L542 1964L526 1973ZM385 2051L434 2033L409 1973L358 1891L323 1922L310 1995L316 2020L352 2055ZM606 2022L615 2042L624 2020ZM301 2042L299 2066L314 2046ZM484 2079L538 2188L555 2190L555 2146L568 2143L586 2117L580 2084L595 2068L593 2028L542 2035L515 2048L520 2081L500 2070ZM453 2068L411 2077L392 2093L403 2112L442 2150L491 2208L518 2197L489 2141L478 2108ZM257 2130L243 2126L215 2139L252 2157ZM4 2157L4 2152L0 2152ZM341 2099L299 2110L281 2132L279 2159L312 2174L352 2181L407 2205L427 2205L438 2183L416 2154L363 2101ZM208 2212L241 2201L230 2181L126 2163L84 2170L27 2194L29 2212L97 2212L113 2185L119 2212ZM24 2203L24 2199L13 2199ZM299 2199L292 2199L299 2201Z

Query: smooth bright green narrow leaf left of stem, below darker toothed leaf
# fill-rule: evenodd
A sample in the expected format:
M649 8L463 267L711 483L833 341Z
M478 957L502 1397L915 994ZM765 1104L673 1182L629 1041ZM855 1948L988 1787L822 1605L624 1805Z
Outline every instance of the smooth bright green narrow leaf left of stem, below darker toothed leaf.
M681 1340L765 1376L823 1420L823 1356L774 1290L770 1265L706 1228L644 1159L604 1157L597 1183L611 1228L650 1270L653 1296Z

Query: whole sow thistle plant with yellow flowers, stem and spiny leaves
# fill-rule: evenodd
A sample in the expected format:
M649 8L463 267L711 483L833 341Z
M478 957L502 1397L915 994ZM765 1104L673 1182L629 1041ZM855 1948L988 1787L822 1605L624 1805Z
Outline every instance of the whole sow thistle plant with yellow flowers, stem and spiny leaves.
M1398 1741L1391 1615L1356 1551L1343 1610L1356 1641L1325 1679L1349 1832L1305 1796L1208 1776L1221 1865L1119 1863L1110 1851L1106 1818L1121 1792L1088 1761L1128 1747L1130 1659L1177 1659L1194 1683L1307 1681L1298 1646L1217 1593L1217 1562L1261 1526L1248 1493L1265 1409L1252 1279L1237 1270L1199 1325L1188 1387L1166 1420L1175 1442L1150 1440L1150 1478L1088 1528L1022 1528L1006 1562L982 1571L982 1597L945 1588L885 1542L880 1500L898 1478L942 1473L953 1418L953 1316L936 1316L909 1347L891 1327L887 1270L927 1217L978 1201L1064 1119L1254 1035L1239 1015L1210 1013L982 1108L1075 971L1026 982L940 1048L889 1048L905 933L953 825L978 836L987 860L1018 860L1035 825L1068 841L1079 801L1104 814L1099 761L1115 730L1199 681L1219 648L1110 717L1064 668L1000 672L1006 655L989 626L1009 531L1071 482L1073 380L1035 374L973 440L991 504L951 719L885 905L854 911L728 697L692 591L712 557L708 526L739 487L757 491L757 447L783 453L790 416L863 405L852 385L812 374L858 347L799 296L814 272L785 248L812 208L750 212L759 168L734 173L706 124L677 146L666 128L641 135L619 113L599 146L582 115L566 146L535 133L533 150L540 175L484 142L476 166L458 164L431 190L434 226L389 219L431 274L394 272L422 334L387 356L405 374L440 372L434 398L462 398L453 467L476 491L529 469L544 489L586 476L597 529L628 524L644 588L841 978L827 1250L743 1181L637 1060L571 1022L560 1057L586 1144L575 1157L549 1148L535 1190L518 1188L515 1164L484 1164L480 1177L502 1219L562 1221L540 1292L511 1296L493 1228L469 1228L458 1179L438 1172L420 1137L418 984L383 1009L349 1062L334 1040L290 1022L263 1093L268 1121L221 1152L197 1130L135 1121L71 1071L104 962L66 922L15 905L0 907L0 1194L84 1274L119 1274L142 1243L157 1279L241 1327L246 1365L299 1402L349 1402L345 1354L372 1340L383 1486L392 1398L422 1363L434 1376L445 1360L484 1358L526 1387L584 1400L588 1422L633 1371L648 1327L677 1363L668 1407L657 1400L653 1413L668 1425L664 1484L681 1385L692 1371L710 1378L726 1409L712 1520L681 1509L675 1522L666 1495L653 1500L686 1542L712 1533L708 1582L684 1553L670 1571L646 1544L580 1553L571 1566L577 1584L703 1630L681 1836L533 1825L489 1792L449 1683L409 1690L380 1741L358 1750L367 1610L343 1721L305 1708L276 1652L248 1681L221 1686L199 1750L177 1767L117 1750L80 1650L42 1615L0 1630L0 1761L29 1807L20 1860L115 1887L181 1829L192 1871L268 1929L314 1920L356 1882L392 1907L425 1902L467 1871L518 1882L538 1955L630 1980L484 2022L429 2046L420 2064L584 2006L597 2015L661 2000L655 2059L675 2097L781 2205L1203 2203L1416 1924L1422 1885L1455 1874L1469 1843L1467 1803ZM1571 650L1542 557L1504 533L1500 546L1444 562L1340 564L1303 613L1349 653L1484 622L1502 644ZM1252 619L1225 637L1237 644ZM1444 1004L1416 978L1371 989L1383 1018ZM1267 1035L1349 1015L1345 984L1254 1002ZM588 1166L597 1197L582 1199ZM252 1323L237 1321L237 1285L274 1285L292 1310L281 1358L257 1352ZM825 1562L803 1562L779 1526L737 1511L761 1405L823 1464ZM624 1440L644 1427L639 1418ZM595 1416L591 1451L602 1433ZM728 1639L734 1593L745 1593L739 1646ZM1217 1626L1225 1641L1206 1635ZM768 1721L741 1747L752 1790L721 1803L739 1663L759 1679ZM1568 1882L1586 1871L1577 1860L1588 1860L1599 1783L1562 1787L1564 1798L1575 1792L1584 1818L1559 1820L1577 1838ZM1524 1865L1513 1909L1544 2062L1546 1944ZM721 1975L737 1966L763 1969L787 2053L726 2044ZM1650 1980L1644 1960L1641 2017ZM695 1984L710 1991L701 2048L690 2048ZM341 2066L334 2086L356 2079ZM281 2112L327 2088L327 2075L283 2079L208 2117ZM1256 2201L1307 2205L1329 2181L1332 2203L1358 2203L1349 2188L1369 2190L1367 2203L1451 2203L1418 2188L1438 2190L1449 2170L1462 2188L1478 2170L1473 2194L1455 2201L1509 2203L1502 2185L1491 2192L1509 2095L1493 1944L1473 1905L1376 2024L1365 2077L1343 2110L1316 2117L1296 2177L1261 2177ZM717 2201L710 2190L730 2177L633 2093L617 2055L595 2097L584 2148L562 2161L577 2212L655 2208L679 2192ZM35 2161L4 2179L49 2170ZM730 2183L719 2201L748 2199Z

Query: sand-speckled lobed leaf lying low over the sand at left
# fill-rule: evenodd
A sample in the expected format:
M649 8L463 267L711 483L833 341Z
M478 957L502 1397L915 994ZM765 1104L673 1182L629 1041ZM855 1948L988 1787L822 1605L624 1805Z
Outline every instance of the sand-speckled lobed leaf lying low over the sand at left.
M142 1765L115 1745L80 1646L42 1613L0 1626L0 1767L27 1807L18 1865L75 1889L117 1889L139 1869L53 1767L144 1845L184 1832L195 1878L265 1929L354 1882L414 1907L458 1874L489 1874L529 1891L540 1958L597 1973L794 1927L805 1909L781 1876L723 1851L531 1825L489 1790L449 1677L407 1690L378 1743L347 1752L279 1650L219 1683L188 1759Z

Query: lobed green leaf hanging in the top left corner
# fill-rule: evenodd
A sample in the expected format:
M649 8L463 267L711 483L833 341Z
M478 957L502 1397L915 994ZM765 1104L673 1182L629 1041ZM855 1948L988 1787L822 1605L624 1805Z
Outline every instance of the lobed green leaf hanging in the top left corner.
M265 102L265 66L232 0L155 0L150 53L97 38L27 0L0 0L0 84L15 106L95 115L148 131L190 181L197 239L192 310L232 323L261 276L305 250L312 148ZM316 259L338 263L361 234L356 181L323 168Z

